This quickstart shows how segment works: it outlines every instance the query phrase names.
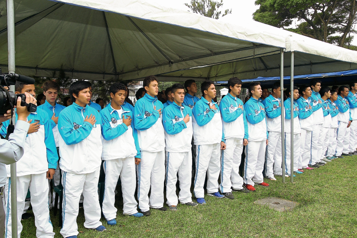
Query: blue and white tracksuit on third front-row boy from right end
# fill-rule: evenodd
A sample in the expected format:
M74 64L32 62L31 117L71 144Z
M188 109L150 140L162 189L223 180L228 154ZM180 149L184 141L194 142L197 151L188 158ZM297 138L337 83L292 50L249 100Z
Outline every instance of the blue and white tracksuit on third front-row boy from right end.
M332 102L330 99L327 99L327 103L328 106L330 107L331 125L330 125L330 140L328 141L326 157L331 157L336 153L337 127L338 127L337 115L339 111L335 102Z

